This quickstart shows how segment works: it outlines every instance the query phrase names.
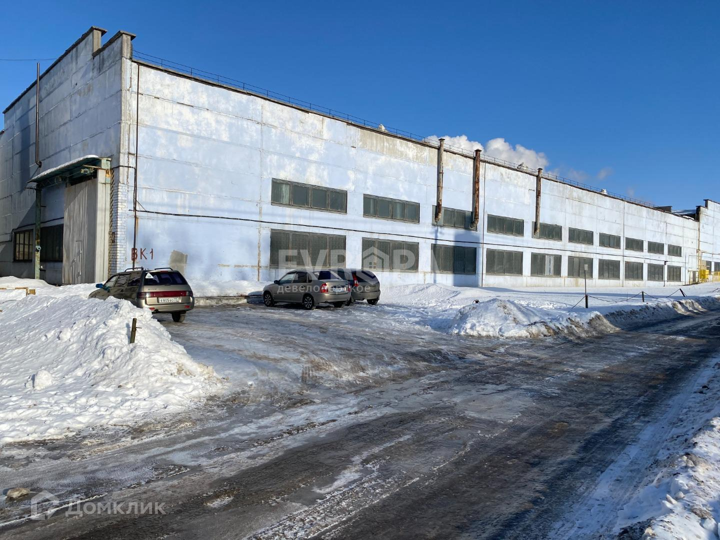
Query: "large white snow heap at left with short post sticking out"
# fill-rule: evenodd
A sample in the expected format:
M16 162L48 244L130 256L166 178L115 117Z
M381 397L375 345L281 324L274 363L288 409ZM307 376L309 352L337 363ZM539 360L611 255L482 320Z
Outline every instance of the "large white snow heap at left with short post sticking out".
M0 444L180 410L220 389L149 311L51 288L0 306Z

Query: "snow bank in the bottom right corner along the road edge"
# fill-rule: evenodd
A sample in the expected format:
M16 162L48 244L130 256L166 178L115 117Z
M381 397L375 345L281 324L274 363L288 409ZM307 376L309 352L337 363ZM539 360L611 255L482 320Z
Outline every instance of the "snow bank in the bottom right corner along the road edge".
M619 526L632 537L717 538L720 362L698 384L679 418L651 469L652 480L619 513Z

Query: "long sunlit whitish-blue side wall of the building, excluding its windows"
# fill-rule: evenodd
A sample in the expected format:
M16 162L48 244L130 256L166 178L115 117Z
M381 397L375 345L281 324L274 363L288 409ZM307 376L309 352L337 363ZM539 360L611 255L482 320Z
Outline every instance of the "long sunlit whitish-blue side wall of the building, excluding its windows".
M137 80L138 70L138 264L181 265L191 280L274 279L282 271L269 268L269 231L287 228L346 235L348 266L361 264L363 237L418 242L418 272L381 276L384 282L395 284L580 284L574 278L530 276L532 252L561 254L563 276L567 275L567 256L592 256L593 286L624 284L625 261L668 261L683 267L683 280L688 269L696 268L698 225L694 220L556 181L543 181L541 222L562 225L563 241L531 238L534 175L490 163L481 171L479 230L434 227L435 148L138 63L132 65L131 79ZM135 104L135 88L131 84L128 89L130 104ZM134 125L134 105L127 107L127 114L128 124ZM130 140L134 152L134 135ZM444 206L472 210L472 158L446 153L444 172ZM273 178L344 189L347 215L272 205ZM420 223L363 217L363 194L419 202ZM127 204L132 208L132 185ZM486 233L488 214L523 219L525 235ZM132 224L131 218L128 223ZM569 227L593 230L594 245L568 243ZM622 248L601 248L598 233L620 235ZM132 264L132 234L130 225L125 261L119 267ZM644 253L626 251L626 236L644 240ZM647 253L648 240L664 243L666 254ZM485 248L522 251L524 275L482 276L483 242ZM432 243L479 248L478 274L433 273ZM667 243L682 246L683 257L667 256ZM620 280L597 278L600 258L621 261Z

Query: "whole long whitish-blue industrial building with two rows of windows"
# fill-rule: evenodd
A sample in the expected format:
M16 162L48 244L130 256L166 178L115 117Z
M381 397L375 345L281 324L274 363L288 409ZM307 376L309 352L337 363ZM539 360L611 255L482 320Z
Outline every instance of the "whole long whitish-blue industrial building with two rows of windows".
M720 271L711 200L631 202L169 68L104 33L88 30L4 110L0 275L68 284L172 266L191 283L271 280L310 263L387 284L570 287L587 274L635 287Z

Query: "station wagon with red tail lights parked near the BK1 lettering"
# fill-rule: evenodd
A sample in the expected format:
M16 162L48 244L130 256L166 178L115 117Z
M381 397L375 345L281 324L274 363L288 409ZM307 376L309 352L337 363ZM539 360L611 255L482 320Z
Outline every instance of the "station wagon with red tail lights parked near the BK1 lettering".
M171 268L129 268L95 285L90 298L122 298L153 313L170 313L176 323L185 320L186 312L195 307L192 289L183 275Z

